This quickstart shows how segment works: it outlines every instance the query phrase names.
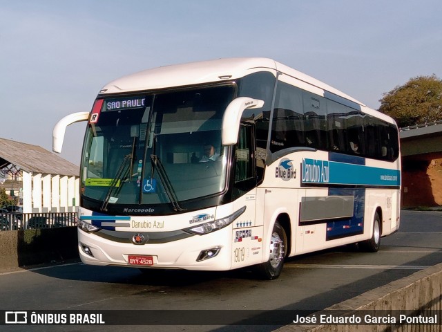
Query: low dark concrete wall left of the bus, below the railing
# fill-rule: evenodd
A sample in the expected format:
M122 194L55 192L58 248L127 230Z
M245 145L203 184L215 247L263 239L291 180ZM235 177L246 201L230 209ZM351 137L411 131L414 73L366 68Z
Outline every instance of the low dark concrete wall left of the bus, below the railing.
M79 257L77 228L0 232L0 269L17 268Z

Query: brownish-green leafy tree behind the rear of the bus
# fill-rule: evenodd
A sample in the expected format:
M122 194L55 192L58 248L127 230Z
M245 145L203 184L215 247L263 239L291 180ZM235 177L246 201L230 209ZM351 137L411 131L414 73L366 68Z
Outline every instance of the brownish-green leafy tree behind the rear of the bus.
M379 111L399 127L442 120L442 80L436 75L418 76L384 93Z

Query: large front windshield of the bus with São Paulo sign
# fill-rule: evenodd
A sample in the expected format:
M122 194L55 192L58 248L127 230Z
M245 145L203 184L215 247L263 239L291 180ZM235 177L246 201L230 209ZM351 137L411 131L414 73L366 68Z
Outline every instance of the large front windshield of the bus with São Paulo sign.
M224 190L222 116L236 87L99 96L81 158L81 194L106 205L151 205ZM97 205L98 206L98 205Z

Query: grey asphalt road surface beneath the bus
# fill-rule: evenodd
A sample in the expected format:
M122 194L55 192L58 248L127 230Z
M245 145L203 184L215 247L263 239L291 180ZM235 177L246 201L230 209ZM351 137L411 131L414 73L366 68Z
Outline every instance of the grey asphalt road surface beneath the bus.
M171 322L180 317L195 321L195 325L0 326L0 329L272 331L280 325L223 326L206 325L206 322L220 317L222 321L229 316L247 324L249 317L265 318L262 311L271 310L278 313L285 310L289 322L291 311L327 308L439 264L441 252L442 212L402 211L399 232L381 239L377 253L358 252L353 246L345 246L294 257L287 260L282 275L273 281L256 279L249 270L222 273L169 270L148 276L133 268L85 266L79 261L0 271L0 310L3 311L116 310L116 316L148 313L155 320L160 312L154 310L177 310ZM206 310L213 311L207 315ZM269 320L273 322L270 316Z

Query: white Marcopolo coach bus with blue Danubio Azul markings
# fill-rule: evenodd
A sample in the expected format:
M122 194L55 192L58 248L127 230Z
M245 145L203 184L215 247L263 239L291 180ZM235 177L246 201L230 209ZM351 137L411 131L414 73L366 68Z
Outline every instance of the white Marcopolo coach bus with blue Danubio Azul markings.
M87 120L78 246L85 264L277 278L286 257L398 230L392 118L272 59L154 68L108 83Z

